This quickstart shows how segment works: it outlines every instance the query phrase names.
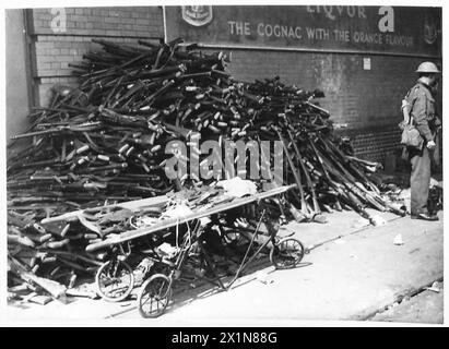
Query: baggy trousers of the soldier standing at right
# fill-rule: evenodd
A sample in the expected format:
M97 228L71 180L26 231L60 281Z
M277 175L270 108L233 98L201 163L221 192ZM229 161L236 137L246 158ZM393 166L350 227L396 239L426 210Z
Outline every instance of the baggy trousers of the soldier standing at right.
M411 214L427 213L428 186L430 184L430 153L427 147L423 152L411 151L410 163L412 173L410 176Z

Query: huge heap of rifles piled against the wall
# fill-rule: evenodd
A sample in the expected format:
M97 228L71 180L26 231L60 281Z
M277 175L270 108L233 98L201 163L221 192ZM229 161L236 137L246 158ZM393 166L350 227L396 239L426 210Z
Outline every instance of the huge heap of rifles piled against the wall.
M378 164L345 154L332 135L329 112L306 92L277 77L239 82L225 71L223 52L204 53L196 45L139 41L139 47L94 40L102 51L73 64L78 88L55 87L46 108L29 116L29 145L8 158L9 242L45 251L80 254L73 227L47 231L39 221L74 209L134 201L172 190L209 184L213 179L172 181L164 172L172 140L282 141L284 184L296 183L272 201L281 219L322 221L322 210L352 208L370 218L367 207L393 210L366 176ZM206 155L198 155L201 161ZM270 164L276 155L270 154ZM224 179L224 177L222 177ZM64 230L66 229L66 230ZM69 232L68 232L69 229ZM79 228L78 228L79 229ZM91 232L92 233L92 232ZM82 245L82 244L81 244ZM12 249L12 248L11 248ZM78 254L73 257L73 251ZM54 255L43 253L47 262ZM72 257L72 260L69 258ZM35 262L35 261L34 261ZM33 267L33 265L32 265Z

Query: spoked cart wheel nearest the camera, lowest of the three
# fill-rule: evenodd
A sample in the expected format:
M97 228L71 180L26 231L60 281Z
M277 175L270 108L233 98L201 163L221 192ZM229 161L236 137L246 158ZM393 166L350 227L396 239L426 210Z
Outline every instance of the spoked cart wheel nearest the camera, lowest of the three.
M164 313L170 298L170 279L164 274L154 274L142 285L139 292L139 313L143 317L157 317Z

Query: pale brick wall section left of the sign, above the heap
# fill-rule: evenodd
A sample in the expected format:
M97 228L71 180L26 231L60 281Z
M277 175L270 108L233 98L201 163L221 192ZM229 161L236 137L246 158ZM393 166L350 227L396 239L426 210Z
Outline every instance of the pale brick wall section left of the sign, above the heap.
M33 9L28 10L28 33L34 47L35 104L45 106L54 84L76 83L69 64L101 48L92 38L130 45L138 39L159 40L164 25L161 7Z

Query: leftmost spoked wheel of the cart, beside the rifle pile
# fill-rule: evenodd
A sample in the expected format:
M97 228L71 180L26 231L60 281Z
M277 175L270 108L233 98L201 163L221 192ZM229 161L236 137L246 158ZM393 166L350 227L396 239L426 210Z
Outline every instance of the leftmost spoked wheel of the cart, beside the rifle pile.
M109 301L119 302L126 299L134 287L134 275L123 261L108 261L103 264L95 276L98 294Z

